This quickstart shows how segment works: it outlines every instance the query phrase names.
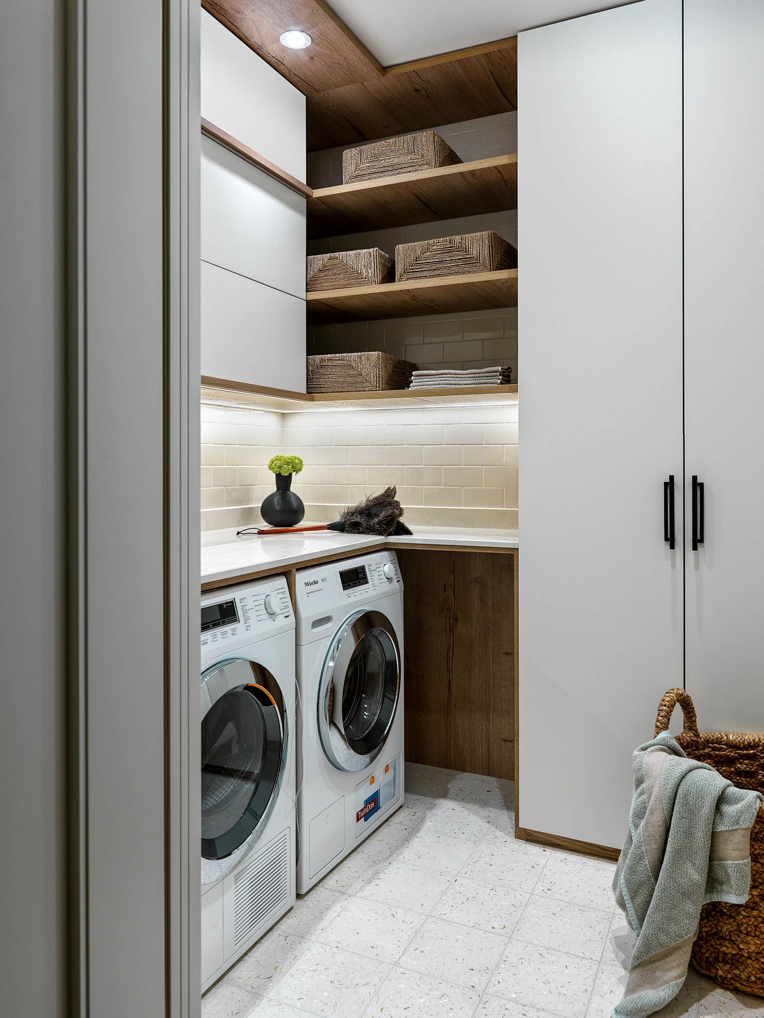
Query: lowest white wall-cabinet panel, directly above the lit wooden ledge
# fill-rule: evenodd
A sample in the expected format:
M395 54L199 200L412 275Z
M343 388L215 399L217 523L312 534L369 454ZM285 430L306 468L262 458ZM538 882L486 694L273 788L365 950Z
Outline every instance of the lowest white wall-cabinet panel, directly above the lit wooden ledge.
M305 300L202 263L202 374L306 390Z

